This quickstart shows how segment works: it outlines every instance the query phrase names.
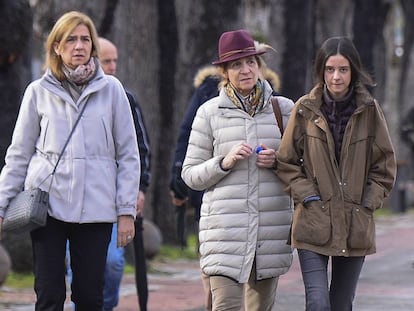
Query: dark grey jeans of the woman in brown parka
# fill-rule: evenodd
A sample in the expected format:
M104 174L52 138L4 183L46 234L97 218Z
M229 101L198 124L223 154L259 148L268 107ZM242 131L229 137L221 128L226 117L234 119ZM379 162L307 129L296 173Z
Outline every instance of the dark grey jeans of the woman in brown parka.
M365 257L331 257L298 249L306 293L306 311L350 311Z

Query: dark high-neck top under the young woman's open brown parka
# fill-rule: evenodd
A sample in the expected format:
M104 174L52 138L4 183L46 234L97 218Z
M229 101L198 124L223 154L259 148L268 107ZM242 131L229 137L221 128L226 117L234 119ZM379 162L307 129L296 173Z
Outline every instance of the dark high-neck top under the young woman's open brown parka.
M328 121L329 129L335 141L335 156L338 163L341 156L345 128L355 109L356 103L353 88L349 90L345 97L335 100L327 87L324 86L321 110Z

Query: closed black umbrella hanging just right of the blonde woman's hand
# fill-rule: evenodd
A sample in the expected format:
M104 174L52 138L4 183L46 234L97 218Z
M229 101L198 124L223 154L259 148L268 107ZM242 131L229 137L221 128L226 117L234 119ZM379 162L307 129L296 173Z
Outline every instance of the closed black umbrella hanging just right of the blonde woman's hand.
M148 303L148 281L147 281L147 262L145 260L144 240L143 240L143 218L135 220L135 284L137 287L138 303L140 311L147 311Z

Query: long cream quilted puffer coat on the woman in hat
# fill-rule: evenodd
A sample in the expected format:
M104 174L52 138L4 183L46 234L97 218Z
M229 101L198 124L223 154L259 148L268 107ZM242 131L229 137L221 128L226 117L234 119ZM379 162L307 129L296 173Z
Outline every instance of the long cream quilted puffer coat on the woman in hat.
M264 109L251 117L222 90L197 111L183 164L182 178L195 190L206 189L200 218L201 268L208 275L248 281L256 260L257 279L277 277L292 262L287 245L292 206L275 172L258 168L256 156L230 171L219 162L239 142L277 149L280 132L265 82ZM284 124L293 102L278 97Z

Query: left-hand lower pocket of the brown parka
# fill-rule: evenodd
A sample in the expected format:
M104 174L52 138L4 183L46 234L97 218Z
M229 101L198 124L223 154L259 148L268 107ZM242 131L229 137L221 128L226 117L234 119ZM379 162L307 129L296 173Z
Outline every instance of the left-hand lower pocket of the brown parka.
M325 245L331 237L331 216L329 207L323 202L305 207L299 204L295 210L292 237L303 243ZM316 203L316 202L315 202Z

